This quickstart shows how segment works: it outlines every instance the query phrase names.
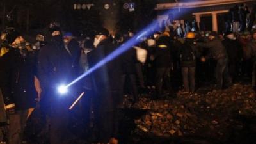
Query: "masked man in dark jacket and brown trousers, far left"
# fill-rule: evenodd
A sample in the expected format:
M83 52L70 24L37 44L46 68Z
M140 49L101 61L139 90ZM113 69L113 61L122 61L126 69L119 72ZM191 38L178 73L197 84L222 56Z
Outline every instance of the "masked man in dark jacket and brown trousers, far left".
M6 30L8 52L1 57L1 90L10 119L8 143L22 143L22 134L35 107L36 60L24 38L14 29ZM3 71L2 71L3 70Z

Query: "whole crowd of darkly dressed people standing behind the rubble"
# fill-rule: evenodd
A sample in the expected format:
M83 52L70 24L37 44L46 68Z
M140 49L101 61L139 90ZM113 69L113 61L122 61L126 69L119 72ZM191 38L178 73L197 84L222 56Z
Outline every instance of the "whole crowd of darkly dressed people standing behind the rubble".
M94 38L75 37L63 33L56 22L50 24L49 33L51 41L37 35L35 44L15 28L1 33L0 140L5 134L8 143L22 143L26 121L37 104L47 121L44 129L50 143L72 143L68 141L72 137L68 108L81 92L86 93L81 111L87 124L93 111L95 141L118 143L118 109L124 108L127 93L133 104L141 93L149 93L154 100L175 99L179 90L184 95L195 93L203 82L212 80L214 89L221 90L243 76L252 77L252 88L256 89L256 30L237 33L230 29L224 34L188 30L184 36L154 31L72 84L67 93L59 93L58 86L106 61L134 33L112 36L108 29L99 28Z

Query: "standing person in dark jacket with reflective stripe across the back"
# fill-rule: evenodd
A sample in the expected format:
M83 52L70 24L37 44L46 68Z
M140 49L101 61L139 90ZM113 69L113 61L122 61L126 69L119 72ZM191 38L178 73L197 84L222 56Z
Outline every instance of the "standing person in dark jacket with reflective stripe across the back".
M151 56L151 60L154 60L156 64L156 90L157 97L163 94L163 82L169 90L169 94L173 95L173 90L170 82L171 72L171 42L170 37L165 35L159 35L156 38L156 52Z

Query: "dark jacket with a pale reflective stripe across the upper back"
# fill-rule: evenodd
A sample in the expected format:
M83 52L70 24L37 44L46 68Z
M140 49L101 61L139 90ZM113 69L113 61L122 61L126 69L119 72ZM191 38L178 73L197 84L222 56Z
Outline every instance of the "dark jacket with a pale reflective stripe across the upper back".
M154 54L156 67L171 67L171 40L168 36L159 36Z

